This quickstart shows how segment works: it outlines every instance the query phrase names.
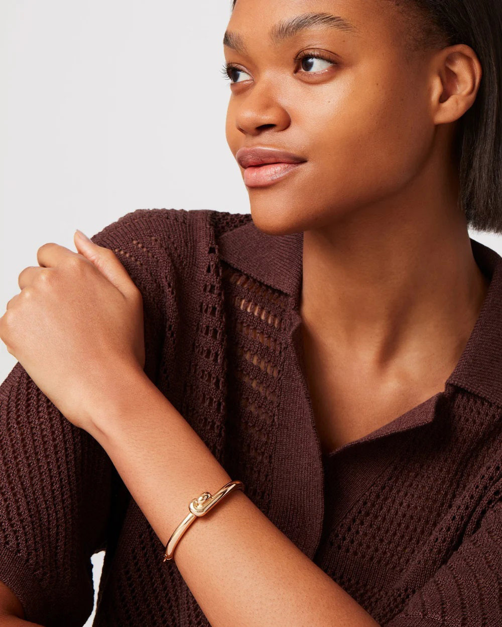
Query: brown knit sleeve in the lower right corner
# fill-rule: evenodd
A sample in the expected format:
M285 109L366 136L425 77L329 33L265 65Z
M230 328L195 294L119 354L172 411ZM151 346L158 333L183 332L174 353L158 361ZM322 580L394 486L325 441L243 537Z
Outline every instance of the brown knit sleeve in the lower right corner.
M502 625L502 502L494 494L478 529L382 627Z

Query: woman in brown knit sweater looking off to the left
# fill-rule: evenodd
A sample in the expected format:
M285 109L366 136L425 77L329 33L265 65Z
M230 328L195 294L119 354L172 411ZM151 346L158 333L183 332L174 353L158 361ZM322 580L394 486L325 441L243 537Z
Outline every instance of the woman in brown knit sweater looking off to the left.
M502 8L234 4L251 214L41 246L0 319L4 613L81 625L105 548L98 626L501 624Z

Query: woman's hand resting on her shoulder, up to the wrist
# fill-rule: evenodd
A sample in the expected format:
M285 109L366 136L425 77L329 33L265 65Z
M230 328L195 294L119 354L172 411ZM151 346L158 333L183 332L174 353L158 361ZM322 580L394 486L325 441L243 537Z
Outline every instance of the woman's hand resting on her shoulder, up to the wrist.
M90 431L114 381L144 368L141 293L112 250L77 231L78 253L54 243L0 318L0 339L73 424Z

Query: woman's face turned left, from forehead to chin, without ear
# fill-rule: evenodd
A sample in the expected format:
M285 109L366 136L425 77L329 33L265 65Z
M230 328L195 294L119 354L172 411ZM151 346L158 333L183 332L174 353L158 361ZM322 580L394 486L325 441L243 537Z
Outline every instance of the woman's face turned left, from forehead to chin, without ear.
M285 24L317 13L309 28ZM435 133L430 57L409 54L405 28L388 0L237 1L224 45L230 150L270 147L304 159L260 186L245 179L262 231L339 223L398 192L423 165Z

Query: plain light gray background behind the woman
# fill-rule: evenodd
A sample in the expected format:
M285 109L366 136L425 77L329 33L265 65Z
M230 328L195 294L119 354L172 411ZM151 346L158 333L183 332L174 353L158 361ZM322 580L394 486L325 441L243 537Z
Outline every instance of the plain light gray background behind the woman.
M39 246L75 250L77 228L139 208L249 211L225 140L229 18L230 0L1 1L0 315ZM470 233L502 254L500 236ZM0 342L0 381L15 363Z

